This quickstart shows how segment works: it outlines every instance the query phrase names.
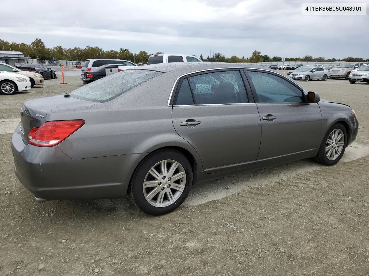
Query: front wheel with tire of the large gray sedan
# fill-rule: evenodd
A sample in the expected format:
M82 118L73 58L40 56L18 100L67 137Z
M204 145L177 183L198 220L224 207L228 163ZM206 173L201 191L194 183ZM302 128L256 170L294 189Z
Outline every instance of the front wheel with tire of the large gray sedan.
M341 123L332 125L325 134L319 151L314 157L315 162L326 166L337 164L344 155L347 144L346 137L346 129Z

